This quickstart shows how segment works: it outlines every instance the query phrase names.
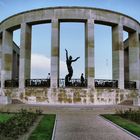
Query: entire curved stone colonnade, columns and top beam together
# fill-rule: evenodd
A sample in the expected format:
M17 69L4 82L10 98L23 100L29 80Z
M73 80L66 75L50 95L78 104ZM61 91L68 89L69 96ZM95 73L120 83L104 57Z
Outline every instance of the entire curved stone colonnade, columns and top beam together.
M5 81L12 79L13 31L21 29L19 89L25 88L25 80L30 79L32 26L51 23L51 88L59 85L59 38L60 22L85 23L85 76L88 88L94 88L94 24L112 27L112 73L113 80L118 80L118 88L124 89L124 40L123 30L128 36L129 81L136 82L140 89L140 24L121 13L84 7L55 7L23 12L0 23L0 76L1 89ZM102 51L102 50L101 50Z

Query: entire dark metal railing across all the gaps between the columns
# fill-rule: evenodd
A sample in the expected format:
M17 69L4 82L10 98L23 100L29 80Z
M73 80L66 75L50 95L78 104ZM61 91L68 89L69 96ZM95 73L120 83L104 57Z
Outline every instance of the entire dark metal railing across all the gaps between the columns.
M95 87L118 88L117 80L95 79ZM5 81L5 87L18 87L19 80L12 79ZM50 87L50 79L27 79L25 80L26 87ZM136 89L136 82L125 81L125 89ZM87 80L81 83L80 79L71 79L69 84L65 85L65 79L59 79L59 87L87 87Z

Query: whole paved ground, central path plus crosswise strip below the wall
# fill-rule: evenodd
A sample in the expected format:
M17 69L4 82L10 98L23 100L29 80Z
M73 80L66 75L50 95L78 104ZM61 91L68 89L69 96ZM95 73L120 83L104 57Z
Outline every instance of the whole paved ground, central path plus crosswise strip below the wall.
M3 107L11 111L32 107L40 108L44 113L55 113L57 120L54 140L136 139L99 116L99 114L114 113L117 108L130 108L129 106L7 105Z

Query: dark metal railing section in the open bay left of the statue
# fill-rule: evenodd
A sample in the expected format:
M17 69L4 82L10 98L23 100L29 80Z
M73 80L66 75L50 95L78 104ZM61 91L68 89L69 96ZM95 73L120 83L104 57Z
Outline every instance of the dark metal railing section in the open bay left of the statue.
M50 79L27 79L26 87L50 87Z

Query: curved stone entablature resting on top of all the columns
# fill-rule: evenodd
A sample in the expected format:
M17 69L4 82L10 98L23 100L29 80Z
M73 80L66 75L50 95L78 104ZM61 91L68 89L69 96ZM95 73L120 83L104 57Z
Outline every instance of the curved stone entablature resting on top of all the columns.
M22 23L40 24L51 22L54 18L71 22L84 22L87 19L93 19L95 23L109 26L122 24L124 30L138 30L140 33L140 23L135 19L122 13L90 7L51 7L22 12L2 21L0 33L6 29L18 29Z

